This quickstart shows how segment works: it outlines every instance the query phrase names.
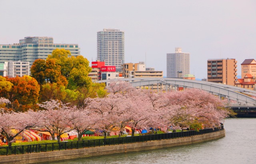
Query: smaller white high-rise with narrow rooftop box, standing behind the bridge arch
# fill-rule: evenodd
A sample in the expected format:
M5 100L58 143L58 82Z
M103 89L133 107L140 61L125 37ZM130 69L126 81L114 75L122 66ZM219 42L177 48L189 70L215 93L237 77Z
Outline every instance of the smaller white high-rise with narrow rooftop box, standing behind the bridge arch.
M178 78L178 73L190 74L190 54L175 48L175 53L166 54L166 75L168 78Z

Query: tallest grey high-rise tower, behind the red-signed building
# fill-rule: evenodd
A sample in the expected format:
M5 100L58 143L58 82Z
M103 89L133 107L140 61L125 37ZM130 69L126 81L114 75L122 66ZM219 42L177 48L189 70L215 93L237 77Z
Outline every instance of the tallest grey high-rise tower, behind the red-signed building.
M121 68L124 63L124 32L115 29L97 32L97 58L106 66Z

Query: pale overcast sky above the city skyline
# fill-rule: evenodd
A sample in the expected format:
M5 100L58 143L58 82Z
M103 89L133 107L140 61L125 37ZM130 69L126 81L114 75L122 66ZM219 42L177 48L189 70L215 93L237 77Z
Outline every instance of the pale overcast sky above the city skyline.
M256 59L256 0L0 0L0 44L52 36L79 44L90 62L97 32L125 33L125 62L163 70L166 53L190 53L190 74L207 78L207 59Z

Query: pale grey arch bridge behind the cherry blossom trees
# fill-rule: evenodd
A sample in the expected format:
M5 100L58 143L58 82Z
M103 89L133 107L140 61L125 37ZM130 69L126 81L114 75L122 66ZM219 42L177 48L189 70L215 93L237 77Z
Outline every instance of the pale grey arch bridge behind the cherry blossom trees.
M229 86L225 84L219 84L214 82L205 82L198 80L187 80L181 78L122 78L111 80L98 80L97 83L107 83L112 81L127 81L134 87L157 88L157 90L177 90L179 87L186 88L198 88L210 92L211 94L218 95L220 98L224 97L230 100L234 100L236 106L251 106L256 107L256 99L250 96L256 96L256 91L248 90L245 88L239 88L236 86ZM230 105L229 107L232 107Z

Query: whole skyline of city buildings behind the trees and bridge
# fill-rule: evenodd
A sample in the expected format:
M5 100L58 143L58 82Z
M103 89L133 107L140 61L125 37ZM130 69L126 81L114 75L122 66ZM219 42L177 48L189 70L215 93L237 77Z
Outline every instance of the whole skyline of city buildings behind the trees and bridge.
M28 36L19 43L0 44L0 76L16 77L30 75L30 68L36 59L46 59L52 50L64 48L72 56L80 55L78 44L55 44L52 37ZM147 67L142 62L125 63L124 32L103 29L97 32L97 60L92 61L92 72L88 76L95 80L115 78L163 78L162 70ZM256 60L245 59L241 63L241 78L237 78L237 61L234 58L208 59L207 79L250 90L256 90ZM190 74L190 53L175 48L166 53L166 77L195 80Z

